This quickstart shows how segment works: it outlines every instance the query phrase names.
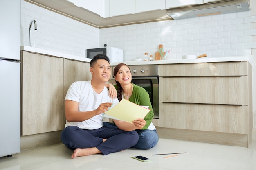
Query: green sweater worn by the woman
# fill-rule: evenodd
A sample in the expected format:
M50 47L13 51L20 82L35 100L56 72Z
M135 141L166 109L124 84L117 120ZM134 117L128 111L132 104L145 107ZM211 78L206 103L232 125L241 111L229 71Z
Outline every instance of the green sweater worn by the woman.
M132 90L132 95L129 97L129 101L137 105L149 106L148 108L150 109L150 111L144 118L144 120L146 120L146 125L141 130L148 129L148 126L151 124L151 120L154 118L154 111L152 109L149 94L143 87L140 87L133 83L132 85L133 85L133 90ZM114 85L114 86L117 89L117 85Z

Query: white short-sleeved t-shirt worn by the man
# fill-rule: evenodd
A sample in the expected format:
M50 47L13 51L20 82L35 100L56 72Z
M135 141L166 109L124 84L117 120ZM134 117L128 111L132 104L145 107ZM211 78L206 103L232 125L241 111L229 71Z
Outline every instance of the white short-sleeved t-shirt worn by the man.
M92 111L97 109L101 103L112 102L113 105L116 105L119 102L117 98L110 98L106 87L100 94L96 93L92 88L91 81L76 81L72 83L67 91L65 100L79 102L78 111ZM83 122L66 121L65 127L78 126L81 129L99 129L103 126L102 115L103 113Z

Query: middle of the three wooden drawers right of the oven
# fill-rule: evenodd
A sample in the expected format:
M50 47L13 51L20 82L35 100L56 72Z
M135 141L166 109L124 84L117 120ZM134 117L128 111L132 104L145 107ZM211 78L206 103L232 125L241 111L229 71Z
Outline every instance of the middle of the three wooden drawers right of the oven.
M248 105L248 77L159 77L159 102Z

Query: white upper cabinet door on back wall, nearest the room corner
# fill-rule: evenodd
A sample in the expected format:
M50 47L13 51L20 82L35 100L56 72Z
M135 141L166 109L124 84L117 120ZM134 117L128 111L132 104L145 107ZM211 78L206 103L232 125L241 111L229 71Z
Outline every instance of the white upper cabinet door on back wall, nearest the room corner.
M136 0L110 0L110 17L136 13Z

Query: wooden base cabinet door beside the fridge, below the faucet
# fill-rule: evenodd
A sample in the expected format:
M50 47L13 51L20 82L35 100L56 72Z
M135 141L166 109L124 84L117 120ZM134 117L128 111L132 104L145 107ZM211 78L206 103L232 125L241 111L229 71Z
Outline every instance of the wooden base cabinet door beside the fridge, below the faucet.
M22 135L63 129L63 58L22 51Z

